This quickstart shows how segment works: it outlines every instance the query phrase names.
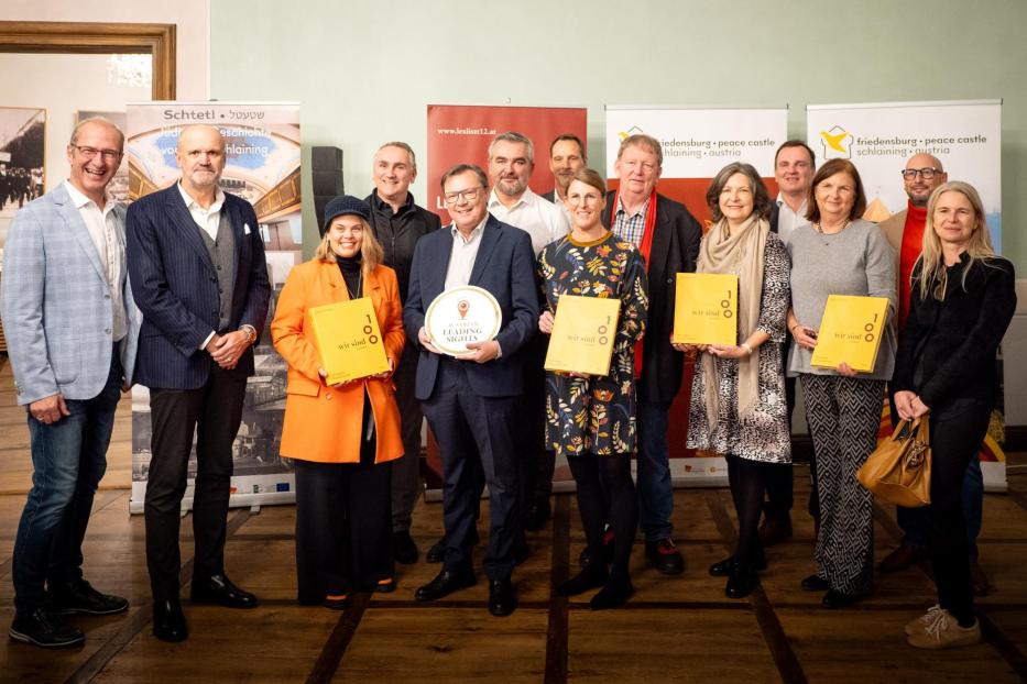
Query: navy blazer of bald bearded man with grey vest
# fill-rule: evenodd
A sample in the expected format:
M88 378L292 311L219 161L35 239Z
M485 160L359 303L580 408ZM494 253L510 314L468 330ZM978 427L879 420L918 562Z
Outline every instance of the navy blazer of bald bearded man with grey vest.
M234 285L228 331L267 318L271 284L264 241L250 202L225 194L221 207L236 240ZM210 355L200 344L218 330L218 278L177 184L129 207L125 247L135 304L143 313L135 382L162 389L195 389L207 382ZM232 371L253 375L253 347Z

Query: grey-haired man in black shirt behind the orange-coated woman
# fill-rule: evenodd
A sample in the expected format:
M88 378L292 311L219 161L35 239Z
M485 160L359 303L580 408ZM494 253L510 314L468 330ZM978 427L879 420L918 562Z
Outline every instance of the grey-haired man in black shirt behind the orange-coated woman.
M374 191L368 196L371 229L385 250L385 265L395 269L400 298L405 304L411 280L414 245L441 225L438 216L414 203L411 183L417 177L414 151L403 142L390 142L374 154L371 178ZM392 464L392 529L396 561L417 562L417 545L411 538L411 512L420 489L420 429L424 415L414 397L417 350L407 344L393 374L396 404L402 419L404 455Z

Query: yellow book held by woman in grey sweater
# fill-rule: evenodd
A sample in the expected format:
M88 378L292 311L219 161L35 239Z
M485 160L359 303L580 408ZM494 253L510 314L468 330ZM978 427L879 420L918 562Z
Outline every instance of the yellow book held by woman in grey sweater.
M829 296L810 365L837 368L845 362L861 373L873 372L887 316L887 297Z

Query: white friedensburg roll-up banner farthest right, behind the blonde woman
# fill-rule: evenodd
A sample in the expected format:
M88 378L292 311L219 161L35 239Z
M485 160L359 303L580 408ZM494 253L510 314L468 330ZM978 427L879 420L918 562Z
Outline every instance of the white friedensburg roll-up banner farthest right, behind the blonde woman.
M860 170L867 219L881 222L906 209L899 174L909 157L926 153L941 162L950 180L977 189L992 244L1002 252L1002 100L810 104L806 122L818 162L850 159ZM999 405L981 446L988 492L1006 489L1006 459L997 442L1003 412Z

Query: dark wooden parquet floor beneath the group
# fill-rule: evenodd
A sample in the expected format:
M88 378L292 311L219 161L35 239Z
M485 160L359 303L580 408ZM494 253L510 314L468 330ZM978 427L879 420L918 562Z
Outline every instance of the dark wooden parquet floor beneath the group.
M3 377L0 368L0 394L10 387ZM12 405L13 395L0 396L0 482L18 492L0 494L0 630L13 617L11 550L31 473L25 445L17 446L28 439L24 418ZM118 428L122 443L125 416ZM114 481L125 478L127 457L117 464L122 457L114 456ZM1027 459L1014 454L1010 461ZM1008 495L985 496L981 558L994 591L979 603L984 642L946 652L911 649L903 635L906 621L936 603L926 567L878 576L872 598L841 611L822 609L819 594L799 589L815 570L812 526L801 512L807 476L796 466L795 537L769 550L769 570L751 597L726 599L723 580L707 574L735 537L728 493L678 490L674 525L685 574L658 574L636 547L636 594L624 608L603 613L588 609L588 595L568 600L551 593L554 582L576 570L583 547L570 495L556 496L551 523L529 536L532 555L514 575L521 607L507 618L487 613L480 572L476 587L441 602L414 602L415 588L438 570L424 562L397 566L394 594L358 595L345 613L301 607L293 507L232 510L228 572L260 596L261 606L238 611L186 602L192 637L181 644L151 633L143 520L129 516L127 489L103 489L86 540L86 576L129 597L129 613L73 618L87 636L76 650L47 652L0 637L0 682L1027 681L1027 473L1009 477ZM184 584L192 571L190 523L190 517L183 521ZM440 531L441 507L422 503L413 529L422 550ZM897 536L893 511L878 509L878 559ZM480 567L480 550L477 560Z

